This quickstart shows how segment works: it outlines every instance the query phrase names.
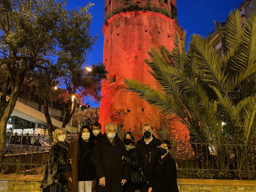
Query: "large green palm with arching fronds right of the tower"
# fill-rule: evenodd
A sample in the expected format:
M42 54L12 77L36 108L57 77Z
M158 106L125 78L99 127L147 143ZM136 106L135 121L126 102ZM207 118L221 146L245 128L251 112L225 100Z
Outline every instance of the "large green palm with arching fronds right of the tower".
M235 146L251 145L256 136L256 14L242 25L239 12L230 12L224 28L219 23L215 25L222 42L222 55L217 53L210 37L195 34L186 54L185 32L182 39L175 36L171 51L164 46L148 51L150 59L145 62L160 90L132 79L124 81L127 89L162 113L179 117L193 142L212 145L218 169L228 170L231 165L244 170L249 148L238 150ZM224 144L231 148L230 154L224 153ZM195 150L197 146L192 147ZM202 151L197 158L201 159L201 167L209 168L205 163L209 155L207 145L203 150L206 154ZM242 177L241 172L238 177Z

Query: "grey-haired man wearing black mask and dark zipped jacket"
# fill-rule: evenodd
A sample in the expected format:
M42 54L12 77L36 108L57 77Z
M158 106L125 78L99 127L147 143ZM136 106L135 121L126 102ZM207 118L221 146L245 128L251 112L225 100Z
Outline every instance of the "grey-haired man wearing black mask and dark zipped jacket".
M154 185L155 167L160 158L158 146L160 140L153 135L153 128L150 124L142 126L144 137L137 141L137 148L140 151L140 161L146 182L140 187L140 192L147 192L148 188Z

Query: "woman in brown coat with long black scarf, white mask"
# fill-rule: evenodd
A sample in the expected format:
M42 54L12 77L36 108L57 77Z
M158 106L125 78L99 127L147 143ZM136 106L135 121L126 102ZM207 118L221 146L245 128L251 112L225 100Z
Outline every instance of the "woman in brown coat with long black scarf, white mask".
M66 162L71 160L72 169L66 172L66 179L71 192L92 192L95 175L92 164L92 136L92 128L84 125L80 129L78 139L70 142Z

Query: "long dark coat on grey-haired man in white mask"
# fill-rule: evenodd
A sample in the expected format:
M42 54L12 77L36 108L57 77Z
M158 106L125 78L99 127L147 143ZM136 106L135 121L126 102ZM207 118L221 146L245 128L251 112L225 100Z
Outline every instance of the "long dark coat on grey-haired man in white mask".
M128 166L123 164L122 156L127 156L123 141L115 137L113 146L104 133L94 146L92 162L97 173L96 190L98 192L123 191L122 179L128 180ZM99 185L99 179L105 177L105 187Z

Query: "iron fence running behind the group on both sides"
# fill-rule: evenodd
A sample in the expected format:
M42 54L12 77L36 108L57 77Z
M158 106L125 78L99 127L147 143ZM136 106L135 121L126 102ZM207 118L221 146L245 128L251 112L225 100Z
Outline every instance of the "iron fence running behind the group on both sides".
M119 129L118 129L119 130ZM120 138L128 130L118 131ZM135 140L143 133L135 129ZM155 130L156 138L166 138L165 128ZM170 138L168 138L170 140ZM178 178L256 179L256 145L204 143L185 138L171 138L171 154L178 163ZM50 149L45 133L6 133L5 154L1 168L5 173L43 173Z

